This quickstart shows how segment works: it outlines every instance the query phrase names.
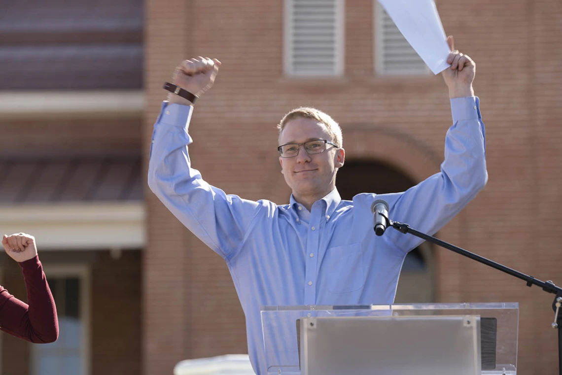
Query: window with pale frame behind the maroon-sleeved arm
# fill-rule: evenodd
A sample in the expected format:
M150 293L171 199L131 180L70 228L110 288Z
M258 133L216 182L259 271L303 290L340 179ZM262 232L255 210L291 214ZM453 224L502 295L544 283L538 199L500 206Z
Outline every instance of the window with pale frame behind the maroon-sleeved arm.
M86 375L89 372L88 269L45 267L57 305L59 335L51 344L31 345L33 375Z

